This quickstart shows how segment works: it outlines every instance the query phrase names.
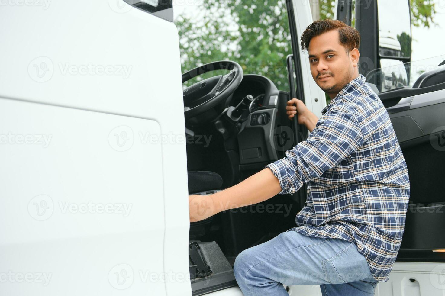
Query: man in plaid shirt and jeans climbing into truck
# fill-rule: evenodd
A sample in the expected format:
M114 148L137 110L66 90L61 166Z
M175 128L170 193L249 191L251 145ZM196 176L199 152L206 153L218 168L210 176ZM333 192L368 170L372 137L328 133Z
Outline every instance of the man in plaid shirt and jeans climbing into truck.
M189 198L194 222L198 213L205 219L307 183L297 227L237 256L234 272L244 295L288 295L280 283L320 284L325 296L373 295L388 280L404 232L409 178L388 113L358 73L359 45L359 32L341 21L309 25L301 46L331 102L321 118L296 98L286 108L289 118L298 113L309 137L243 182Z

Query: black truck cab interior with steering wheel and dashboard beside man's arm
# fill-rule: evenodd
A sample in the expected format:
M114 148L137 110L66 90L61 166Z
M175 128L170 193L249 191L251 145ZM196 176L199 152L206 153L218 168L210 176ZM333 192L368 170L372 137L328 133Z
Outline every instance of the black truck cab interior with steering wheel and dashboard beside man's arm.
M283 147L293 144L283 130L285 126L291 131L285 113L288 92L279 91L265 76L243 75L243 69L234 61L218 61L192 69L182 75L183 82L208 69L226 69L229 73L184 89L190 195L211 195L231 187L282 158L286 150ZM244 249L293 227L297 201L277 196L254 207L223 211L190 223L194 293L208 290L212 282L218 286L221 282L235 285L232 272L235 257ZM206 260L201 260L198 253ZM213 262L220 264L214 266ZM204 270L198 268L203 264ZM213 278L204 289L202 285L210 275Z

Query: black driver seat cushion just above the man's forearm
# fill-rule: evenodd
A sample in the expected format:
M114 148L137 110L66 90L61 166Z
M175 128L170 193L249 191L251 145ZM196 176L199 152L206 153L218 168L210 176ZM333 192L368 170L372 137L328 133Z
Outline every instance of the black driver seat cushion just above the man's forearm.
M209 170L187 171L189 182L189 194L207 190L219 189L223 185L223 178Z

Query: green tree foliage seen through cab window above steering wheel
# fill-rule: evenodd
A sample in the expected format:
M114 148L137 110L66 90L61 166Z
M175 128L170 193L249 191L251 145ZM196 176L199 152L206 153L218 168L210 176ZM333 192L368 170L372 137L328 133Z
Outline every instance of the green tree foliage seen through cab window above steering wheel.
M201 9L197 22L185 16L175 20L183 72L233 60L244 73L264 75L288 90L286 56L292 50L285 0L207 0Z

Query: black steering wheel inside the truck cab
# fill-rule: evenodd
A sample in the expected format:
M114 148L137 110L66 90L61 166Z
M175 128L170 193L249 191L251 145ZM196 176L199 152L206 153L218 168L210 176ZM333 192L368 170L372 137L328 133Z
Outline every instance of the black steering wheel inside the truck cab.
M216 61L191 69L182 74L182 83L214 70L230 70L190 85L183 91L184 118L195 117L225 101L243 80L243 68L234 61Z

